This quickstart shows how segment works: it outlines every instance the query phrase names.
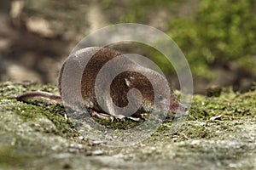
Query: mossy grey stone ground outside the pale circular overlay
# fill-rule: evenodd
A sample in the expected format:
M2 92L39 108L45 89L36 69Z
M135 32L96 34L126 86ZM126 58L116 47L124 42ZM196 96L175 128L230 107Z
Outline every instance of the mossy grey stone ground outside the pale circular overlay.
M195 95L176 133L165 122L148 139L108 147L79 133L61 105L8 99L34 82L0 84L0 169L256 169L256 90ZM108 122L113 123L113 122ZM114 124L114 123L113 123Z

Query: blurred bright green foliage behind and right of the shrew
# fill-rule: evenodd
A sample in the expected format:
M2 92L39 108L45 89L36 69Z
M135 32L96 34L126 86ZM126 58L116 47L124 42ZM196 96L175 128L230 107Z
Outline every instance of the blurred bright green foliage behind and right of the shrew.
M212 67L236 67L256 76L256 1L202 0L189 18L170 20L169 35L195 76L212 78Z

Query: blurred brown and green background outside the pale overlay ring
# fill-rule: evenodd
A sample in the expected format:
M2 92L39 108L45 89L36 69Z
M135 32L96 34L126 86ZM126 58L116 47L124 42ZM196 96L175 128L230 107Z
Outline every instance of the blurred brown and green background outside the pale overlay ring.
M103 26L136 22L166 32L182 49L195 93L212 86L245 92L256 81L255 0L1 0L0 81L56 84L75 45ZM143 44L113 44L160 65L172 86L175 71Z

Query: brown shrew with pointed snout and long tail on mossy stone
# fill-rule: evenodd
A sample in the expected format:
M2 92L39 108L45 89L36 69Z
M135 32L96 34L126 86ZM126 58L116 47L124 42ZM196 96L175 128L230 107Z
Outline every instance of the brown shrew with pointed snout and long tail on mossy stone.
M32 92L15 99L62 99L69 105L80 102L91 111L119 118L154 110L187 111L165 77L111 48L84 48L71 54L61 67L58 82L61 96Z

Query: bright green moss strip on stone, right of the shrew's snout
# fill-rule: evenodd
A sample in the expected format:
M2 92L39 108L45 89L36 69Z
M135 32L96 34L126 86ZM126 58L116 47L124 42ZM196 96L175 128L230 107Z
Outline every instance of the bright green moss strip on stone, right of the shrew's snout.
M241 116L256 116L256 91L240 94L232 90L220 94L219 97L195 95L189 120L209 119L212 116L222 115L224 119Z

